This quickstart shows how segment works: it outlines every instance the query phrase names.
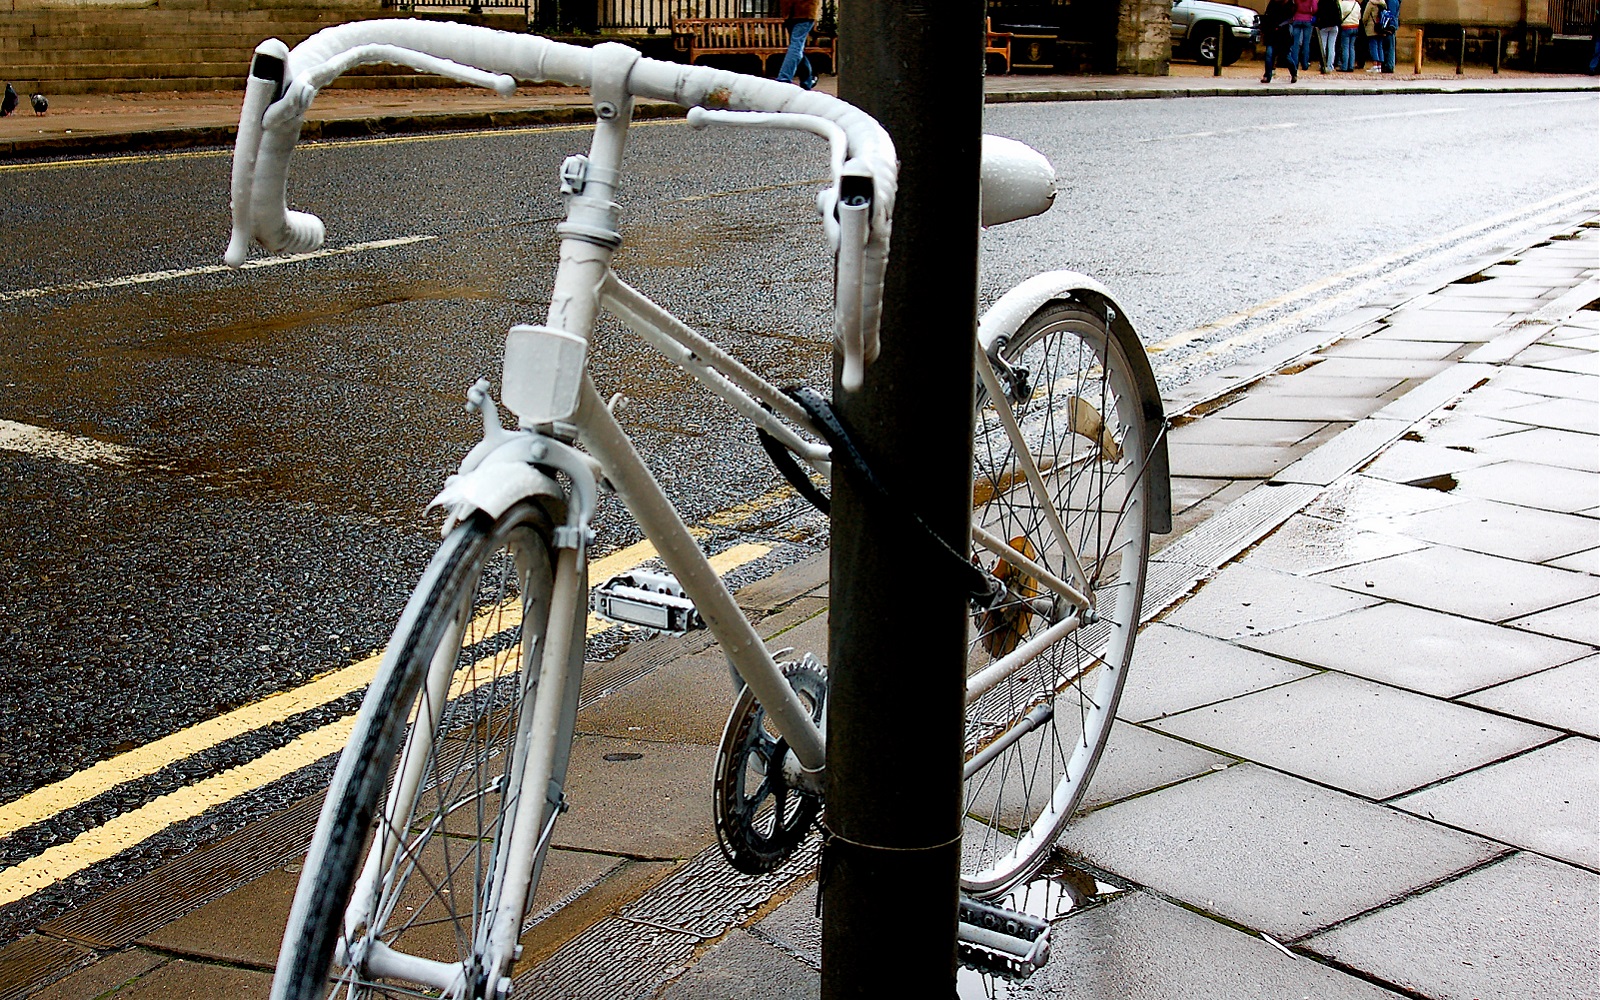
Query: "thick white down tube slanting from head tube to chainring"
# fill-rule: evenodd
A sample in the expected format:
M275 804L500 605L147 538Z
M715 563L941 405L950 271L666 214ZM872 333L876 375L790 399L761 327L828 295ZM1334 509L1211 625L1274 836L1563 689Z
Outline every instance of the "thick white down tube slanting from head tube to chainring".
M699 542L683 525L672 502L656 485L650 469L634 450L622 427L606 410L595 390L594 381L584 374L578 400L578 427L584 445L600 459L606 478L616 486L634 520L656 546L661 562L678 578L678 584L694 600L701 618L712 635L722 643L728 662L750 685L755 698L766 709L778 731L789 741L795 757L808 771L822 768L822 734L811 722L811 712L778 670L766 645L750 627L749 619L734 603L722 578L706 562Z

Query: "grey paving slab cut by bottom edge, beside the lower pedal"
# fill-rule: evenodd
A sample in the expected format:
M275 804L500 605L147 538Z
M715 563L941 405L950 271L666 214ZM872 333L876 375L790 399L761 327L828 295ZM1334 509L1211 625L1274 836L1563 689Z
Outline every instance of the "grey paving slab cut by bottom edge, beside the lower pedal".
M1126 893L1054 923L1051 960L997 997L1056 1000L1394 1000L1395 994L1254 934ZM982 997L970 994L973 1000ZM968 994L962 994L963 1000Z

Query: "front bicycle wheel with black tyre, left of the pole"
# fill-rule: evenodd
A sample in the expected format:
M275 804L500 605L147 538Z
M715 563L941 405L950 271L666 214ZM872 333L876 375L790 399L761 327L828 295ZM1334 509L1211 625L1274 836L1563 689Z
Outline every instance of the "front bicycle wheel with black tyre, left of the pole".
M509 837L507 814L520 790L522 771L506 762L517 754L518 718L531 717L538 688L531 682L550 626L550 534L544 509L523 502L498 520L483 514L464 520L429 563L330 784L285 928L274 1000L419 995L405 981L336 968L342 962L336 957L360 954L371 939L461 963L469 986L482 984L478 928L493 917L485 901L498 898L506 877L496 853ZM581 637L582 621L573 629ZM581 654L579 638L574 656ZM557 786L565 779L578 701L578 685L565 688L552 770ZM435 698L438 691L445 698ZM413 715L416 722L408 723ZM424 720L427 726L419 725ZM408 754L426 762L418 792L405 819L376 822L395 808L392 800L403 798L394 787ZM507 773L512 778L501 784ZM390 827L402 830L394 859L363 894L362 909L352 910L363 861ZM542 856L541 845L534 885ZM461 907L458 899L472 904ZM366 912L370 923L347 934L347 910Z

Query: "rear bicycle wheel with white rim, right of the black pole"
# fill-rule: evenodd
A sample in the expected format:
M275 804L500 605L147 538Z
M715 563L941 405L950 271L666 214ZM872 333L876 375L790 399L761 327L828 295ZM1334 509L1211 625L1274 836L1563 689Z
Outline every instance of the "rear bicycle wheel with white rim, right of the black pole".
M1070 581L1048 523L1050 504L1078 554L1094 621L968 704L962 888L978 898L1000 896L1034 874L1083 802L1133 656L1150 538L1147 464L1154 442L1106 318L1067 299L1046 302L1000 357L1016 370L1010 384L1002 379L1005 405L1034 454L1046 496L1035 494L998 419L997 400L979 386L974 523ZM973 558L995 573L1006 592L971 618L968 677L1038 637L1051 618L1059 619L1053 610L1042 611L1048 592L1038 581L976 542ZM1026 722L1030 714L1032 730ZM1026 734L1014 738L1018 733ZM974 765L984 754L995 755Z

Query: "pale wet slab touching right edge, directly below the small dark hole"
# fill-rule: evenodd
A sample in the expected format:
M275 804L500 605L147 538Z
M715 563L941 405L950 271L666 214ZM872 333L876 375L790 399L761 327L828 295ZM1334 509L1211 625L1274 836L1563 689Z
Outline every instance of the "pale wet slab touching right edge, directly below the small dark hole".
M1600 546L1600 522L1494 501L1467 499L1400 522L1410 538L1544 563Z

